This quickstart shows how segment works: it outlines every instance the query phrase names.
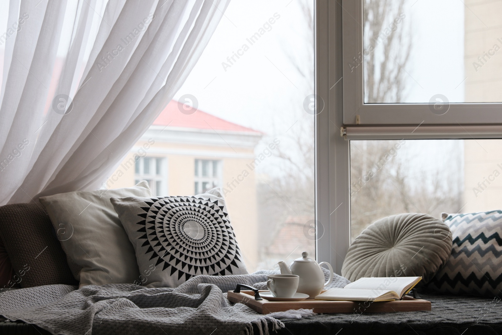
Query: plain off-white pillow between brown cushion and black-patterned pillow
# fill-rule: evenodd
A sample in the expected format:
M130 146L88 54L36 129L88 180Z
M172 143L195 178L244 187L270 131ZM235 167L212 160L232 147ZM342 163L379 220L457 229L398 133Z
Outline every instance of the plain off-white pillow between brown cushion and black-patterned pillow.
M133 283L140 276L134 248L111 197L152 196L148 182L134 187L76 191L40 198L80 286Z

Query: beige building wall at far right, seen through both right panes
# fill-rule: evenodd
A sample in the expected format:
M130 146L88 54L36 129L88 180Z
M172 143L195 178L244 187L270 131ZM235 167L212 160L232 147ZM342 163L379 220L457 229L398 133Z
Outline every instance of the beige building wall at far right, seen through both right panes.
M502 102L502 3L465 6L465 101ZM502 209L502 140L464 141L463 200L462 212Z

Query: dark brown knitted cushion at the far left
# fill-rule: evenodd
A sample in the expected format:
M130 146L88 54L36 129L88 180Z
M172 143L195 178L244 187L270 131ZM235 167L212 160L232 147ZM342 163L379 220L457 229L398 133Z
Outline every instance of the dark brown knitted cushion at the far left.
M42 205L15 203L0 207L0 235L21 287L78 285Z

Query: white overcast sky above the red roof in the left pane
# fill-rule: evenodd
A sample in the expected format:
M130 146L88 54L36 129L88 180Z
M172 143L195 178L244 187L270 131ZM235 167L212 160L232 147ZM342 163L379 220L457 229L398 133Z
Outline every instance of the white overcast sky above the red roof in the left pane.
M272 18L274 24L270 24ZM185 84L175 95L193 94L199 108L220 118L266 133L274 127L286 131L298 119L290 102L302 106L305 83L286 52L304 53L307 33L297 0L230 2L208 46ZM254 44L247 39L266 25ZM263 32L263 31L262 31ZM227 57L247 51L230 67ZM313 55L313 48L307 52ZM314 64L300 64L313 70ZM293 101L291 101L293 100Z

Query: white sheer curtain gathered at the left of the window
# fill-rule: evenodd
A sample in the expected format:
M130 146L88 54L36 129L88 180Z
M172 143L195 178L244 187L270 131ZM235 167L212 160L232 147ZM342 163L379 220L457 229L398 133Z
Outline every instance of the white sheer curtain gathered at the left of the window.
M99 188L230 0L39 1L0 5L0 205Z

